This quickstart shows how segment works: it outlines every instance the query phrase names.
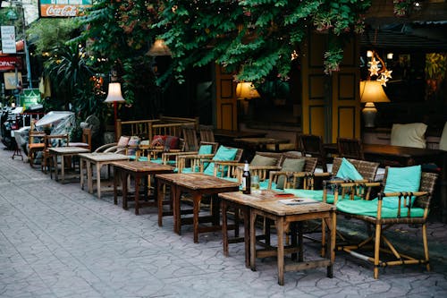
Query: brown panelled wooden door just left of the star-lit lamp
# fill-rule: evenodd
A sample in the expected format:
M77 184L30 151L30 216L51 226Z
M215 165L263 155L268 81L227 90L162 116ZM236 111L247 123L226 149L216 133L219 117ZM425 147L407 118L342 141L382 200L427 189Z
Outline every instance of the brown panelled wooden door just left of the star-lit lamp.
M360 137L358 96L358 41L345 47L339 72L324 72L326 34L310 33L303 47L302 132L320 135L325 142L337 137Z

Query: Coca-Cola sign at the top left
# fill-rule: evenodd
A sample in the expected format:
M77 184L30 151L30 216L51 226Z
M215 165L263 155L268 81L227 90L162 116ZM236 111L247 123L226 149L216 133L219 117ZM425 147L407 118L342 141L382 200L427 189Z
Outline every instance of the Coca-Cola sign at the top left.
M39 0L38 8L41 18L68 18L82 14L91 4L92 0Z

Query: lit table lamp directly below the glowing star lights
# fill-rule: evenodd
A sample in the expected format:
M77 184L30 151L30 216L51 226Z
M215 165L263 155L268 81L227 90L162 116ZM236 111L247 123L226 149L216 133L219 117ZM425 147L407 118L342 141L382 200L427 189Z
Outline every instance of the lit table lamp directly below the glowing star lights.
M375 126L377 109L375 102L390 102L380 81L360 81L360 102L365 103L362 110L365 127Z

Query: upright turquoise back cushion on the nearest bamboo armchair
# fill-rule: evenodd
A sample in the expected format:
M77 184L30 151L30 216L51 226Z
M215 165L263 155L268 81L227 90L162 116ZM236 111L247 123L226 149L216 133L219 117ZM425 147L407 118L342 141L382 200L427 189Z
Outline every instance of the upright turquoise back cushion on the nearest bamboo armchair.
M417 192L420 187L421 166L389 167L386 175L384 192ZM411 198L410 206L413 206L415 198ZM398 197L386 197L382 203L384 208L397 209ZM401 200L401 208L404 200Z

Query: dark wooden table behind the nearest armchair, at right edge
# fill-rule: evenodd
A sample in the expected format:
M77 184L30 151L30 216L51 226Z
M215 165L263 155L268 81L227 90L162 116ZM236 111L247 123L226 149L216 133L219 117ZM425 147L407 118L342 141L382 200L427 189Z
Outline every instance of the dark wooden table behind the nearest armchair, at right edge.
M440 149L422 149L386 144L362 144L365 159L379 162L382 166L416 166L434 164L440 172L441 217L447 223L447 152ZM337 144L325 144L329 154L337 154Z

